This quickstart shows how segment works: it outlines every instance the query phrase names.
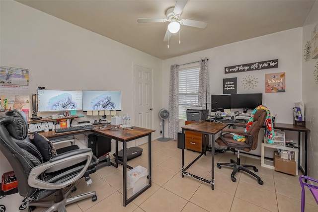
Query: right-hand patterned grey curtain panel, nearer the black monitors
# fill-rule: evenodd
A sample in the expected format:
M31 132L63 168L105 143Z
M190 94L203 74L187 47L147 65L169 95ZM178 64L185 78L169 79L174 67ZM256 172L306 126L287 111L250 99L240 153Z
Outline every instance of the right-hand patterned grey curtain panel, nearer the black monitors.
M210 103L210 81L207 58L201 59L200 62L198 105L205 108L206 103ZM210 111L210 109L211 104L208 104L208 111Z

